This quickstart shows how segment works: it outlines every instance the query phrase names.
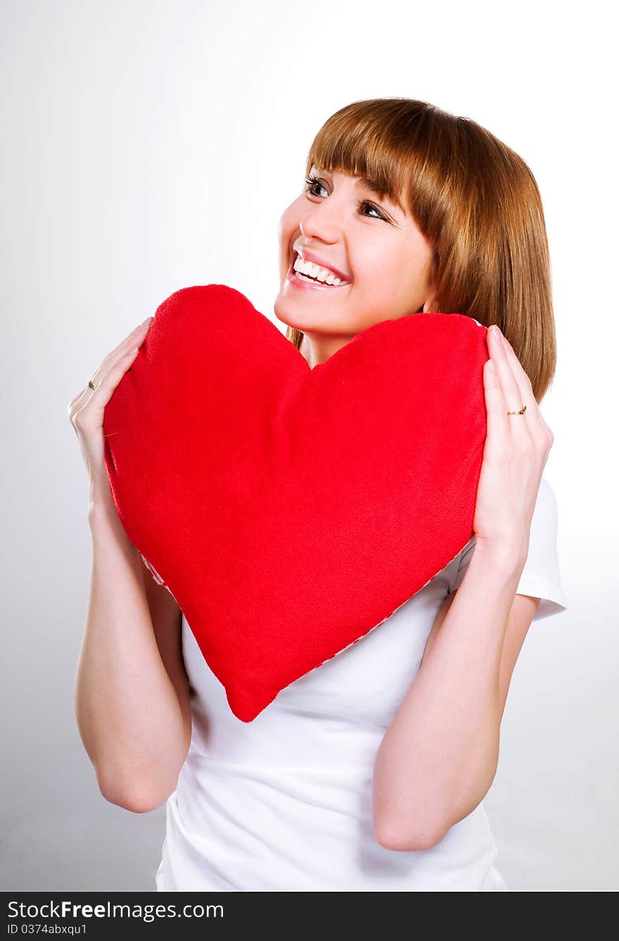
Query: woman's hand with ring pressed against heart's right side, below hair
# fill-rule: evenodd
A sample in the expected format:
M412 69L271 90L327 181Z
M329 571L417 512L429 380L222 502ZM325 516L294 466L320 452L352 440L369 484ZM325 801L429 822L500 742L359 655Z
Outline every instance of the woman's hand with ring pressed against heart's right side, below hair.
M516 553L524 564L537 492L554 437L511 344L494 327L487 330L486 342L490 353L484 363L487 431L473 534L476 546L484 545L500 555ZM524 414L507 414L523 406L527 407Z

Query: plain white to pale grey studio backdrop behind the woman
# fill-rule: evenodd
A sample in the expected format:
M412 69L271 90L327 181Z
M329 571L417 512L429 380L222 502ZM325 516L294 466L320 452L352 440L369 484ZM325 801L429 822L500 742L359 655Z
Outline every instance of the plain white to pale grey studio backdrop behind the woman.
M617 173L611 5L2 5L4 683L0 888L153 890L164 809L107 804L74 673L90 571L67 403L172 292L273 314L278 217L343 104L420 98L532 167L558 369L542 411L568 611L533 625L485 799L512 890L610 891L618 783ZM614 79L614 82L613 82ZM145 704L148 708L148 705Z

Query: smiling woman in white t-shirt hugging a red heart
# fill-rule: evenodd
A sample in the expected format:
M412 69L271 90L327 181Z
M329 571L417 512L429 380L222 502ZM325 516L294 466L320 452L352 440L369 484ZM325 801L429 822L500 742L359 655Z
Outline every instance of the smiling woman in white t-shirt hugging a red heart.
M306 172L280 220L275 313L310 366L420 311L502 328L473 535L377 630L238 720L104 470L103 408L149 318L70 406L93 538L80 734L107 800L167 801L160 891L506 891L482 800L527 630L565 607L542 477L556 351L541 200L496 137L407 99L341 108Z

